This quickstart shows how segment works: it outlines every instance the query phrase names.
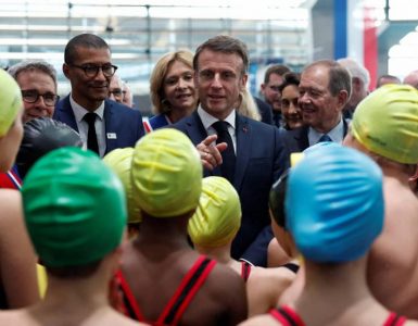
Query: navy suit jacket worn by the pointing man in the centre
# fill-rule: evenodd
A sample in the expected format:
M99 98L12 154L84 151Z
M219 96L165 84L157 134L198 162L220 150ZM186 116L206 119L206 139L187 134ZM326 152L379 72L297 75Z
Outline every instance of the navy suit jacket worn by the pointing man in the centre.
M183 131L194 145L207 137L198 112L172 125ZM287 152L279 130L237 113L237 163L233 187L240 196L241 227L232 242L232 256L258 265L266 264L269 226L268 196L273 183L288 167ZM204 171L204 176L220 176L220 168ZM264 230L262 233L262 230Z

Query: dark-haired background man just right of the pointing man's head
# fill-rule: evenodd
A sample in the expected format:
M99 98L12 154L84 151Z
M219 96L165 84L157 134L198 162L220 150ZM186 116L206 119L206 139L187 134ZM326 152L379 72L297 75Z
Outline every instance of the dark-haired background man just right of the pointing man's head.
M282 126L279 87L283 83L283 75L289 72L290 68L286 65L274 64L267 68L262 84L262 93L266 103L271 106L273 124L276 127Z

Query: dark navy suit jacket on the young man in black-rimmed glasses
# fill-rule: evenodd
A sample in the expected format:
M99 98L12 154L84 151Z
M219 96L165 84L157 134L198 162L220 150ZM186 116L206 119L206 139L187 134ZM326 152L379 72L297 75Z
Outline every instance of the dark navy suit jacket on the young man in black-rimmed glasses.
M69 96L56 103L53 118L65 123L78 133ZM144 135L141 113L115 101L104 100L103 118L106 140L105 153L116 148L134 147L137 140ZM116 138L107 138L109 133L115 134Z

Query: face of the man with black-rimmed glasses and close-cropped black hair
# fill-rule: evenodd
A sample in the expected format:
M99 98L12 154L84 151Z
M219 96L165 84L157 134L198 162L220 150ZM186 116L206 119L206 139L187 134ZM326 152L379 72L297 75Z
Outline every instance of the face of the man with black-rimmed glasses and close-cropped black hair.
M63 72L71 82L74 100L85 109L93 111L107 98L112 76L105 76L102 70L99 70L96 76L88 77L83 68L75 65L110 65L111 51L109 48L77 47L75 52L74 62L64 63Z

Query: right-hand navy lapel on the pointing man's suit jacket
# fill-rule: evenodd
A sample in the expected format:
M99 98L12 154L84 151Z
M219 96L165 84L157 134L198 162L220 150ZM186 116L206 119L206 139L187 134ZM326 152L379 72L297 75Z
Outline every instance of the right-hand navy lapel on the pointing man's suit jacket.
M252 128L249 124L249 120L237 113L237 164L236 176L233 179L233 186L236 189L241 187L246 165L251 155L252 147Z

